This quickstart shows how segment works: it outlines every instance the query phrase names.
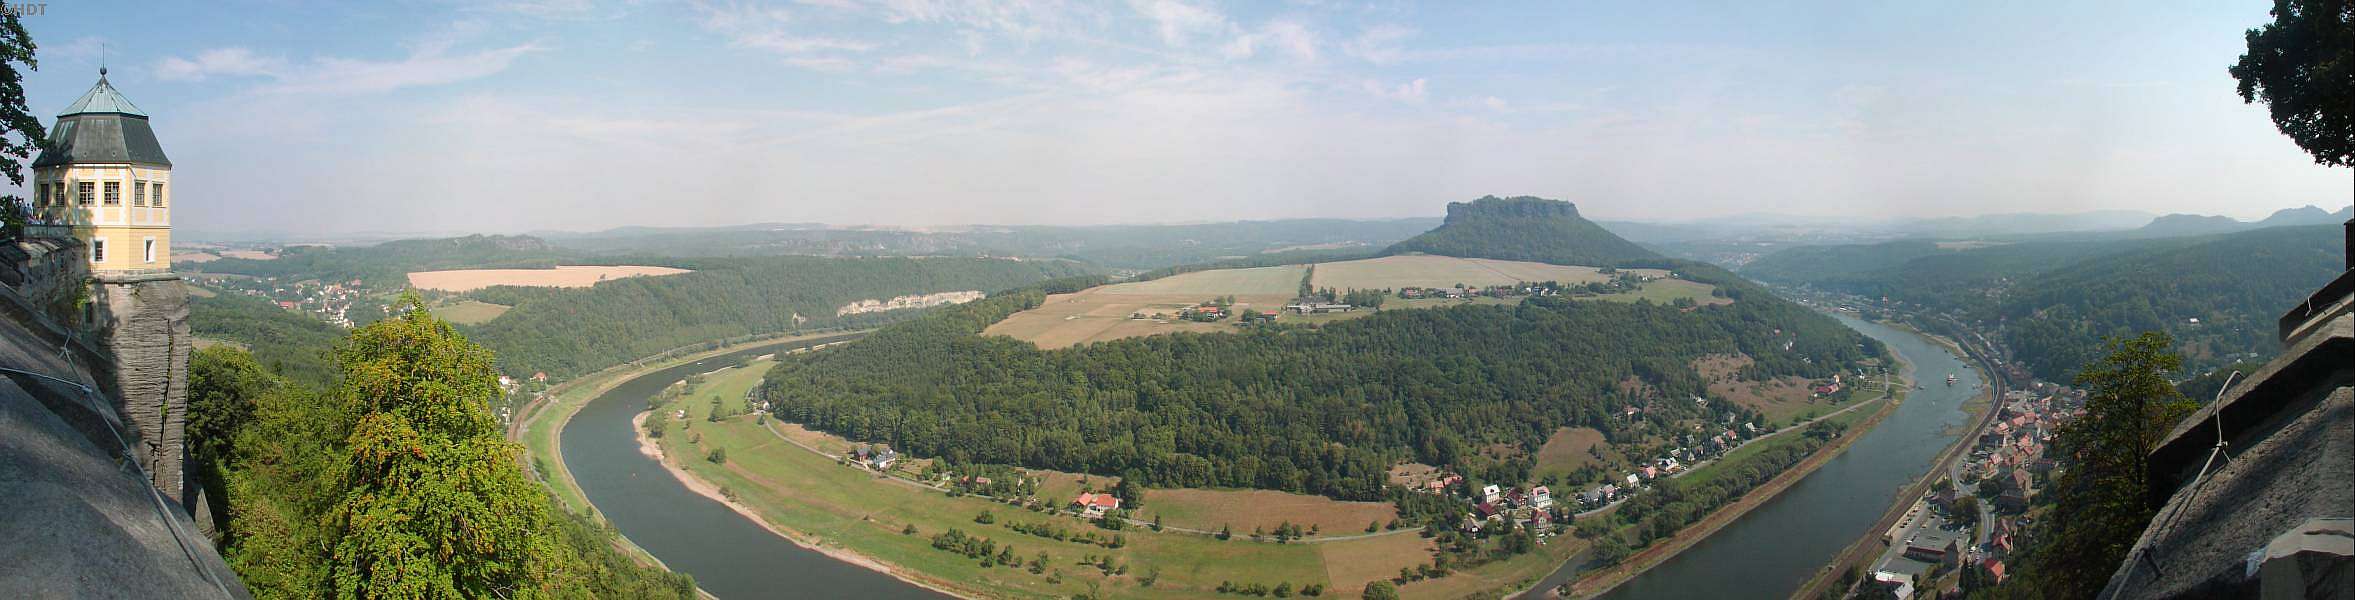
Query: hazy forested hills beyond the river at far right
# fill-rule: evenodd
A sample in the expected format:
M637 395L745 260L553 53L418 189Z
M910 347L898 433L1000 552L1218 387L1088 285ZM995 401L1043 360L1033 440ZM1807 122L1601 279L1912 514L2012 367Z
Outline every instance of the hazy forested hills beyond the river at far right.
M2021 365L2068 381L2103 336L2145 329L2174 334L2190 372L2273 355L2273 320L2329 282L2339 254L2336 226L2289 226L1973 249L1926 240L1792 247L1743 273L1999 322Z

